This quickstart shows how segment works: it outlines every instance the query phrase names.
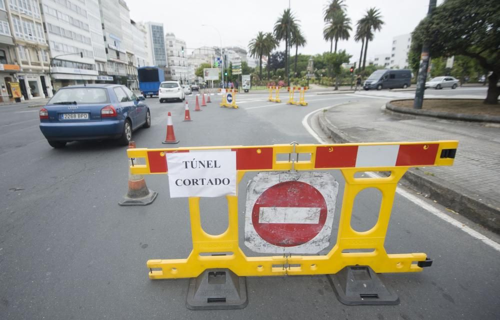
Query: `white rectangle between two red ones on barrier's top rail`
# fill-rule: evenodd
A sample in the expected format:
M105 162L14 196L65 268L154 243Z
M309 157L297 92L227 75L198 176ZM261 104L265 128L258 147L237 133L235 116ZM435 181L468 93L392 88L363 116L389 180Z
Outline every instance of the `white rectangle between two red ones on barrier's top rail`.
M360 145L357 148L356 167L394 166L399 144Z

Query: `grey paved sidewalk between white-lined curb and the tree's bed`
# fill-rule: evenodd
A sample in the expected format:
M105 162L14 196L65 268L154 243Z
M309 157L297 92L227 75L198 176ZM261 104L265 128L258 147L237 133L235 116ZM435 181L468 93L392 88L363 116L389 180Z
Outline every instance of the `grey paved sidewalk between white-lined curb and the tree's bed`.
M381 106L379 100L337 105L320 112L319 124L336 142L458 140L452 166L411 168L403 179L438 203L500 233L498 126L400 114Z

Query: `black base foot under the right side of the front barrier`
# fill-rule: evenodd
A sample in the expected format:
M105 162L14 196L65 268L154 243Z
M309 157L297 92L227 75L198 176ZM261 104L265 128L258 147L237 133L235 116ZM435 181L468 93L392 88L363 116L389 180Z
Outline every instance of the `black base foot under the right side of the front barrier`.
M327 277L337 299L343 304L399 304L399 297L389 291L369 266L346 266Z

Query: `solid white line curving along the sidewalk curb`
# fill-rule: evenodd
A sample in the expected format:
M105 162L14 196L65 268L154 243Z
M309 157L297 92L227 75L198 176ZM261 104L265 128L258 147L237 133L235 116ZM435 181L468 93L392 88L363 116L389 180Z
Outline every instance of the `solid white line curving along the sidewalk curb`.
M344 103L340 103L340 104L344 104ZM332 105L332 106L328 106L326 108L335 107L335 106L338 106L340 104L335 104L335 105ZM309 132L319 143L321 143L321 144L328 144L329 142L323 140L319 135L317 135L317 133L314 132L314 130L309 126L309 123L307 122L308 119L309 119L309 116L311 116L313 113L318 112L318 111L320 111L322 109L325 109L325 108L321 108L321 109L314 110L314 111L311 111L311 112L307 113L304 116L304 118L302 119L302 125L305 127L305 129L307 130L307 132ZM366 174L368 174L371 177L380 177L378 174L373 173L373 172L366 172ZM396 189L396 192L399 195L401 195L401 196L405 197L406 199L408 199L409 201L413 202L415 205L417 205L417 206L421 207L422 209L424 209L424 210L432 213L433 215L437 216L441 220L448 222L449 224L451 224L451 225L459 228L460 230L462 230L463 232L467 233L468 235L470 235L470 236L472 236L472 237L474 237L474 238L482 241L486 245L489 245L490 247L492 247L496 251L500 252L500 243L497 243L497 242L491 240L490 238L488 238L484 234L482 234L480 232L477 232L476 230L472 229L471 227L468 227L468 226L464 225L460 221L457 221L457 220L453 219L452 217L450 217L449 215L447 215L446 213L444 213L444 211L442 211L442 210L438 209L437 207L434 207L433 205L431 205L431 204L423 201L418 196L413 195L413 194L409 193L406 190L403 190L403 189L401 189L401 188L398 187Z

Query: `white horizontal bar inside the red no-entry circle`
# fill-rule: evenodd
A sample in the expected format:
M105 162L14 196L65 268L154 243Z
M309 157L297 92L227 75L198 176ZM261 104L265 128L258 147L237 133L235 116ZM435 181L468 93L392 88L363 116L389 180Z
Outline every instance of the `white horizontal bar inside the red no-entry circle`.
M316 207L260 207L259 223L319 223L319 212Z

